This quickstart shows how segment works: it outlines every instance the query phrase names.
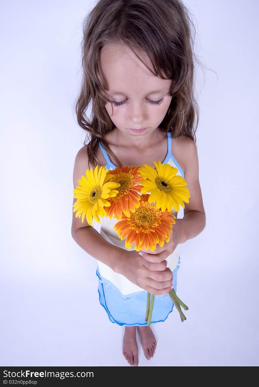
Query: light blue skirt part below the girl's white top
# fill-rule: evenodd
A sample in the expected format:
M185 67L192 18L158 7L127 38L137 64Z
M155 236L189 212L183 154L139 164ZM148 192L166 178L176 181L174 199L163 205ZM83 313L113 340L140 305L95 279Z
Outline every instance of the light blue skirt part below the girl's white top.
M180 257L177 267L173 270L175 292L177 292L177 271L179 267ZM148 325L148 322L145 321L148 297L146 290L123 295L113 283L100 275L98 266L96 275L99 281L99 301L105 308L111 322L126 326ZM155 295L151 324L165 321L172 311L173 301L168 293L161 296Z

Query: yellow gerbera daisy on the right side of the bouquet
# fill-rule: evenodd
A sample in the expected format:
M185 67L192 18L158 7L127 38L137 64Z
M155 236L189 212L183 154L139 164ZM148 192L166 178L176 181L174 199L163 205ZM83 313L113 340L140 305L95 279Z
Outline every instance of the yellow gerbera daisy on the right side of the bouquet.
M184 208L184 202L189 203L190 192L186 187L187 183L182 176L175 176L178 169L170 164L162 164L161 161L153 161L156 169L144 164L139 167L140 176L146 177L141 194L150 192L149 203L156 202L156 208L161 211L175 211L180 209L179 204Z

